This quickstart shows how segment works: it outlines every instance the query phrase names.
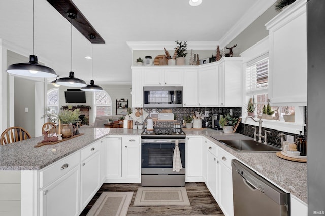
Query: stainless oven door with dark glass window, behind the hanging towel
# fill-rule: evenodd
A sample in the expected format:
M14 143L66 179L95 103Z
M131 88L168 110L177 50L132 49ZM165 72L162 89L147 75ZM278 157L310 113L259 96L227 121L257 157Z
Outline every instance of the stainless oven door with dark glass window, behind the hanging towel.
M183 169L180 172L175 172L172 170L175 140L142 140L142 174L184 174L185 140L179 140L178 147Z

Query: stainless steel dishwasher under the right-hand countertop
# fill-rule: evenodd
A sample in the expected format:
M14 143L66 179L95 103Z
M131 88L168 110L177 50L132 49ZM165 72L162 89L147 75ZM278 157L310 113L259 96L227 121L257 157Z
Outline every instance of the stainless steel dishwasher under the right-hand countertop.
M232 160L234 216L290 216L290 194Z

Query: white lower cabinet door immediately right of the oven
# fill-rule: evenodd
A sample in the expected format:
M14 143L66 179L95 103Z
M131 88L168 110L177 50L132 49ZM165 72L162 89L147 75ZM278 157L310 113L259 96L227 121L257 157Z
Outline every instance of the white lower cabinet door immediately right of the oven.
M203 181L202 137L187 137L186 140L186 181Z

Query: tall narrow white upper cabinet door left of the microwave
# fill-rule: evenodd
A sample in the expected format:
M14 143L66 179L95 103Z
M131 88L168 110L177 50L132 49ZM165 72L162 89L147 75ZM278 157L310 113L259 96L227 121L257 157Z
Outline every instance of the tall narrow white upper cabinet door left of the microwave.
M142 69L132 68L132 107L143 107Z

